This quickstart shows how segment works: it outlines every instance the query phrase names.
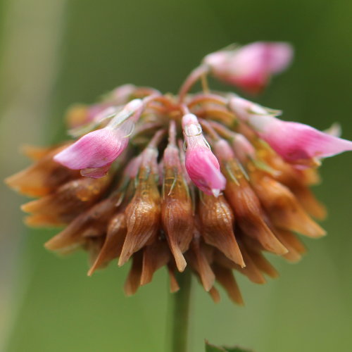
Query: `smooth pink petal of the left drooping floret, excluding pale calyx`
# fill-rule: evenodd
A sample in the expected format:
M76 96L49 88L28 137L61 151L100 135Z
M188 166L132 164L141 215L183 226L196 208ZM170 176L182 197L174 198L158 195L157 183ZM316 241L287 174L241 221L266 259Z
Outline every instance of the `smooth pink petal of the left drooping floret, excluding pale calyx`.
M54 160L73 170L101 168L112 163L126 148L122 131L105 127L85 134L54 156Z

